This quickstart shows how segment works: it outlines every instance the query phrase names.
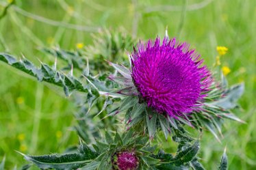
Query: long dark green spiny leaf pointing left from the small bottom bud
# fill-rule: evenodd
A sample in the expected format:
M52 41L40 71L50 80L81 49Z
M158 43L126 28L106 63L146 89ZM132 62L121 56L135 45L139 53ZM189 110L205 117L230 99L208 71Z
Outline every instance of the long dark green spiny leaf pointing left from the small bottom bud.
M29 156L25 154L22 154L22 155L27 161L33 162L40 169L57 169L57 170L77 169L79 167L83 167L88 162L91 162L92 159L97 157L96 154L92 156L92 155L81 154L81 153L51 154L51 155L44 155L44 156Z

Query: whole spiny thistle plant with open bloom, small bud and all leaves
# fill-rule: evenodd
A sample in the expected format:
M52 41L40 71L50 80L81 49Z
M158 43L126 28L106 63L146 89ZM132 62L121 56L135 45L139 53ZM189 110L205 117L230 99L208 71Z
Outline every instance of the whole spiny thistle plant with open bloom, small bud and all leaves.
M140 42L138 49L134 48L129 57L131 68L110 63L116 70L108 76L110 80L107 74L92 76L96 70L90 71L93 67L88 61L85 63L80 53L61 50L53 54L71 66L70 73L57 70L57 60L54 66L41 63L38 68L25 57L17 60L0 53L1 61L36 77L38 81L62 87L66 96L73 91L81 93L81 98L80 93L75 96L80 110L75 130L84 141L80 141L77 150L72 147L64 154L22 154L40 169L204 169L197 155L199 140L188 136L184 126L187 124L199 130L207 128L218 139L222 118L242 122L230 109L237 107L244 84L228 87L225 74L221 75L220 81L213 79L214 75L203 65L200 55L175 38L164 38L162 42L156 38L146 44ZM116 61L115 58L113 60ZM73 74L73 68L80 71L80 76ZM84 94L87 94L86 98ZM116 117L112 117L114 121L103 124L92 121L100 114L104 120L118 113L125 113L125 128L128 129L124 129L121 135L117 130L111 130L118 129L113 128L113 125L118 125ZM171 135L172 140L178 143L176 154L168 154L162 150L166 148L152 145L151 140L158 130L162 130L166 139ZM103 131L105 138L101 137ZM0 169L3 166L4 160ZM226 153L219 169L227 169Z

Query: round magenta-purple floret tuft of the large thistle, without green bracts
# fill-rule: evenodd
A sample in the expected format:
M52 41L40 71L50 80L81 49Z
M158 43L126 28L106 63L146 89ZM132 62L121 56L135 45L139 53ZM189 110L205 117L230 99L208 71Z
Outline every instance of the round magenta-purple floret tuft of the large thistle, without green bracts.
M140 42L131 54L131 76L149 107L170 117L198 110L212 77L203 59L174 38Z

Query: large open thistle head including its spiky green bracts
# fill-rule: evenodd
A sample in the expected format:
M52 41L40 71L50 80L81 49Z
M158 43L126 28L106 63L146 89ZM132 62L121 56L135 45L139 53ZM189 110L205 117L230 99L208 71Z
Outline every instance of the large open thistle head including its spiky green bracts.
M109 115L125 112L128 128L147 130L151 139L162 129L167 139L175 130L183 131L186 124L199 130L207 128L220 141L222 118L242 122L229 109L236 106L244 85L229 89L223 75L216 81L189 44L156 38L140 42L129 57L131 68L110 63L119 74L109 77L120 85L114 94L123 98Z

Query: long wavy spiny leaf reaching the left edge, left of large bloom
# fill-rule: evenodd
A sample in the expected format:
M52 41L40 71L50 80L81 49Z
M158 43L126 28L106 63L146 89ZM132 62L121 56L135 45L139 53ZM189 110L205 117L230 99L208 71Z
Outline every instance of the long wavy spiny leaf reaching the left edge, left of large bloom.
M88 93L88 89L74 76L66 75L51 68L45 63L41 63L41 67L37 68L33 63L27 59L17 61L11 55L0 53L0 60L8 63L10 66L17 68L31 76L34 76L38 81L45 81L53 85L63 87L66 96L69 96L71 91L81 91Z

